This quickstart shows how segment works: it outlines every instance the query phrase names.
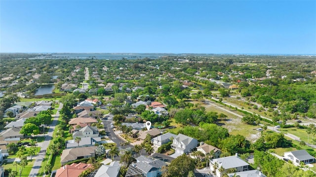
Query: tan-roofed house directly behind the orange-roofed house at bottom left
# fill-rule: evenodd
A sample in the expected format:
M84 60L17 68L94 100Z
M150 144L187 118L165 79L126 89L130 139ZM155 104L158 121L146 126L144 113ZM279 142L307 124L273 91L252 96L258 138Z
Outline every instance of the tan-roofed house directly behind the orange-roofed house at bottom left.
M64 149L60 157L61 165L77 159L94 157L96 148L97 146Z

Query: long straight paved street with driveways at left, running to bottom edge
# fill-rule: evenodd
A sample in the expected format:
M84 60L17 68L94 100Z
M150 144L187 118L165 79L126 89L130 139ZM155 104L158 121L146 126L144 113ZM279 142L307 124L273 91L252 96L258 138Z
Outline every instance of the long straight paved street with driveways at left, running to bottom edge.
M45 164L42 164L42 161L45 157L45 153L46 153L46 149L49 145L49 142L50 140L52 139L52 136L53 136L53 131L55 129L55 126L57 124L57 120L59 118L59 110L63 107L63 104L60 103L59 104L59 107L57 108L57 112L54 116L54 119L53 119L53 122L52 124L49 126L49 130L48 130L48 133L47 135L45 135L45 140L44 142L42 143L41 145L41 148L40 148L40 153L39 155L36 157L36 161L34 162L34 165L32 167L32 170L30 172L30 175L29 177L36 177L38 174L39 174L39 170L40 170L40 167L42 165L45 165Z

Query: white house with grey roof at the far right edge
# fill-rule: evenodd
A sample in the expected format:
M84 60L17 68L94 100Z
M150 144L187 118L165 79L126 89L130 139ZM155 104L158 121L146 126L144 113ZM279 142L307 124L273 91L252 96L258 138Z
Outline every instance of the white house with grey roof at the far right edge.
M291 160L294 165L314 163L315 157L311 156L305 149L284 152L284 157Z

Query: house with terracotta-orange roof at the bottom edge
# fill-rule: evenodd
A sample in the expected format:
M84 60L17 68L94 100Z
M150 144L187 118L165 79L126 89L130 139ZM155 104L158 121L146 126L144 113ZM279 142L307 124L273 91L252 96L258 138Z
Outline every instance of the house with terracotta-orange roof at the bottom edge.
M65 165L56 171L55 177L79 177L83 171L91 167L91 164L85 163Z

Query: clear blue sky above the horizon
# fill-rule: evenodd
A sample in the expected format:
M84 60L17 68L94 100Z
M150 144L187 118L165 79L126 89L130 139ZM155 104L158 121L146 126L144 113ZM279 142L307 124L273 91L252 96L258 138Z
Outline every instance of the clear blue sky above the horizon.
M316 54L316 1L0 0L0 52Z

